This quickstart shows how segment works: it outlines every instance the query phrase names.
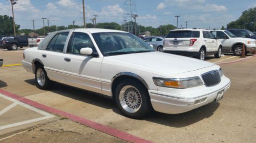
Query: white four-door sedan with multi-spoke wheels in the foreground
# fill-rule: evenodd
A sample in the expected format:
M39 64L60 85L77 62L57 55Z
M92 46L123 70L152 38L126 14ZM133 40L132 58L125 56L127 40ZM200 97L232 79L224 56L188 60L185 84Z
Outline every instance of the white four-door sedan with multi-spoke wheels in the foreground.
M57 81L109 96L130 118L152 109L186 112L220 100L230 86L214 63L157 52L116 30L53 32L38 47L25 49L24 58L23 67L35 74L38 88L54 88L51 81Z

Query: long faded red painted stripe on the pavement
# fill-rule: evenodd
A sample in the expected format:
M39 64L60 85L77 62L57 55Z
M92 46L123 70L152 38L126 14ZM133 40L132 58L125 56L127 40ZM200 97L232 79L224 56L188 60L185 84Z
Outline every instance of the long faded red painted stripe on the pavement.
M82 125L85 125L87 127L93 128L93 129L98 130L100 132L115 136L115 137L120 138L120 139L125 140L125 141L138 142L138 143L152 142L152 141L148 141L148 140L145 140L143 138L134 136L132 134L114 129L112 127L102 125L102 124L99 124L97 122L94 122L94 121L91 121L91 120L88 120L88 119L85 119L85 118L82 118L82 117L79 117L79 116L76 116L76 115L72 115L71 113L61 111L61 110L58 110L58 109L55 109L55 108L37 103L35 101L29 100L29 99L24 98L24 97L20 97L18 95L9 93L9 92L1 90L1 89L0 89L0 94L4 94L4 95L8 96L9 98L13 98L15 100L26 103L28 105L31 105L31 106L35 107L35 108L50 112L52 114L56 114L56 115L60 115L62 117L66 117L66 118L70 119L71 121L78 122Z

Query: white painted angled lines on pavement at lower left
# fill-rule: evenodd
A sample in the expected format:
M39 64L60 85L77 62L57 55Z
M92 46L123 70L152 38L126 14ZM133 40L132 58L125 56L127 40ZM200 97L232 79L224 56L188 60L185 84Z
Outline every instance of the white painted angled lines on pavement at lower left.
M17 123L13 123L13 124L8 124L8 125L4 125L4 126L0 126L0 130L3 130L3 129L7 129L7 128L11 128L11 127L15 127L15 126L20 126L20 125L24 125L24 124L29 124L29 123L33 123L33 122L37 122L37 121L41 121L41 120L46 120L46 119L50 119L50 118L53 118L55 117L54 115L51 115L50 113L48 112L45 112L45 111L42 111L42 110L39 110L35 107L32 107L28 104L25 104L23 102L20 102L18 100L15 100L13 98L10 98L8 96L5 96L5 95L2 95L0 94L0 97L2 98L5 98L9 101L12 101L13 103L9 106L7 106L6 108L4 108L3 110L0 111L0 116L3 115L5 112L7 112L8 110L12 109L13 107L15 107L16 105L20 105L20 106L23 106L23 107L26 107L30 110L33 110L35 112L38 112L40 113L41 115L44 115L44 117L40 117L40 118L35 118L35 119L31 119L31 120L27 120L27 121L23 121L23 122L17 122Z

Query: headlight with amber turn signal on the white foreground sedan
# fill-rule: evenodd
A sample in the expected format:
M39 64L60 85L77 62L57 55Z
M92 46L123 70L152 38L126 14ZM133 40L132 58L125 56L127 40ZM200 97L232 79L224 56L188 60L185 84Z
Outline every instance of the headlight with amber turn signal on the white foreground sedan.
M175 89L187 89L203 85L202 80L196 77L189 78L160 78L153 77L155 85L159 87L175 88Z

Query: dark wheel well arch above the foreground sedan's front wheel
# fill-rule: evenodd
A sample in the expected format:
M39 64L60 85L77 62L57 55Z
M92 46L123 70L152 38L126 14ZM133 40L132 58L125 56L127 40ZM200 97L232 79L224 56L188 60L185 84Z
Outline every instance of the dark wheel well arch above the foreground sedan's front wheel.
M147 90L147 88L145 87L145 85L143 84L143 82L141 82L139 79L135 78L135 77L132 77L132 76L129 76L129 75L121 75L121 76L118 76L117 78L114 79L113 83L112 83L112 87L111 87L111 91L112 91L112 95L113 95L113 98L115 98L115 90L116 90L116 87L117 85L124 79L133 79L139 83L141 83L143 85L143 87Z

